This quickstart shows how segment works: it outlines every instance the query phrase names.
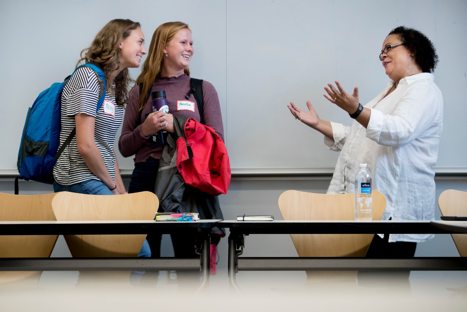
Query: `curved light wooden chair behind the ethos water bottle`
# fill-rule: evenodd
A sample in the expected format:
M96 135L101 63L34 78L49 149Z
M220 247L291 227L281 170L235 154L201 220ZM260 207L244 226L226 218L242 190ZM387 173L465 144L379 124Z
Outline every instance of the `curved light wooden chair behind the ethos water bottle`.
M373 220L381 220L386 198L373 191ZM355 195L285 191L279 197L284 220L355 220ZM364 257L374 234L290 234L300 257Z

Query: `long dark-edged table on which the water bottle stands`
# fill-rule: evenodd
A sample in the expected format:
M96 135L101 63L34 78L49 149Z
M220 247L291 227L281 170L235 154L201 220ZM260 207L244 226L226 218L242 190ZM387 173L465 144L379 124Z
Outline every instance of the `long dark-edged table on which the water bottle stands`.
M445 221L443 221L445 222ZM459 222L459 221L455 221ZM458 227L440 228L430 220L225 220L218 227L229 228L228 276L230 286L239 290L238 271L274 270L467 270L461 257L365 258L365 257L239 257L249 234L453 234L466 233ZM464 229L465 230L465 229Z

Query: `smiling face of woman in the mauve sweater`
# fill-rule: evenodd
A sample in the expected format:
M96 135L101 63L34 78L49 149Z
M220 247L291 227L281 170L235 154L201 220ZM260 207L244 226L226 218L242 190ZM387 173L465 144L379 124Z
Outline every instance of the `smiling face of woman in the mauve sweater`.
M188 67L194 53L190 29L180 29L172 40L167 43L163 52L167 54L167 57L164 55L163 63L166 69L183 71L185 67Z

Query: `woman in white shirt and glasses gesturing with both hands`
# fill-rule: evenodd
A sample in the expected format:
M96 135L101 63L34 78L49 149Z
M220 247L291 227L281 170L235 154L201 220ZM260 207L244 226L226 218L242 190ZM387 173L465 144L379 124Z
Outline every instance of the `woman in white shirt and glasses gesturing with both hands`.
M361 106L353 94L328 84L325 98L355 121L351 127L323 121L308 101L308 111L288 106L296 119L325 135L325 145L340 151L328 193L354 192L360 163L367 163L373 189L387 199L382 220L432 220L435 183L432 166L438 158L443 128L443 98L431 74L438 56L421 32L403 26L393 29L382 44L380 60L391 81ZM383 238L381 238L383 237ZM367 256L406 257L417 242L433 234L375 235Z

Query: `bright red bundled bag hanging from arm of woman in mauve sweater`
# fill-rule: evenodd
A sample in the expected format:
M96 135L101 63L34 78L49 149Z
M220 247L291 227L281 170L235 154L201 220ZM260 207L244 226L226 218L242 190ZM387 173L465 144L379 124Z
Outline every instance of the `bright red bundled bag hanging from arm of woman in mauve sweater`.
M190 118L177 140L177 169L186 184L211 195L226 194L230 184L227 149L213 128Z

